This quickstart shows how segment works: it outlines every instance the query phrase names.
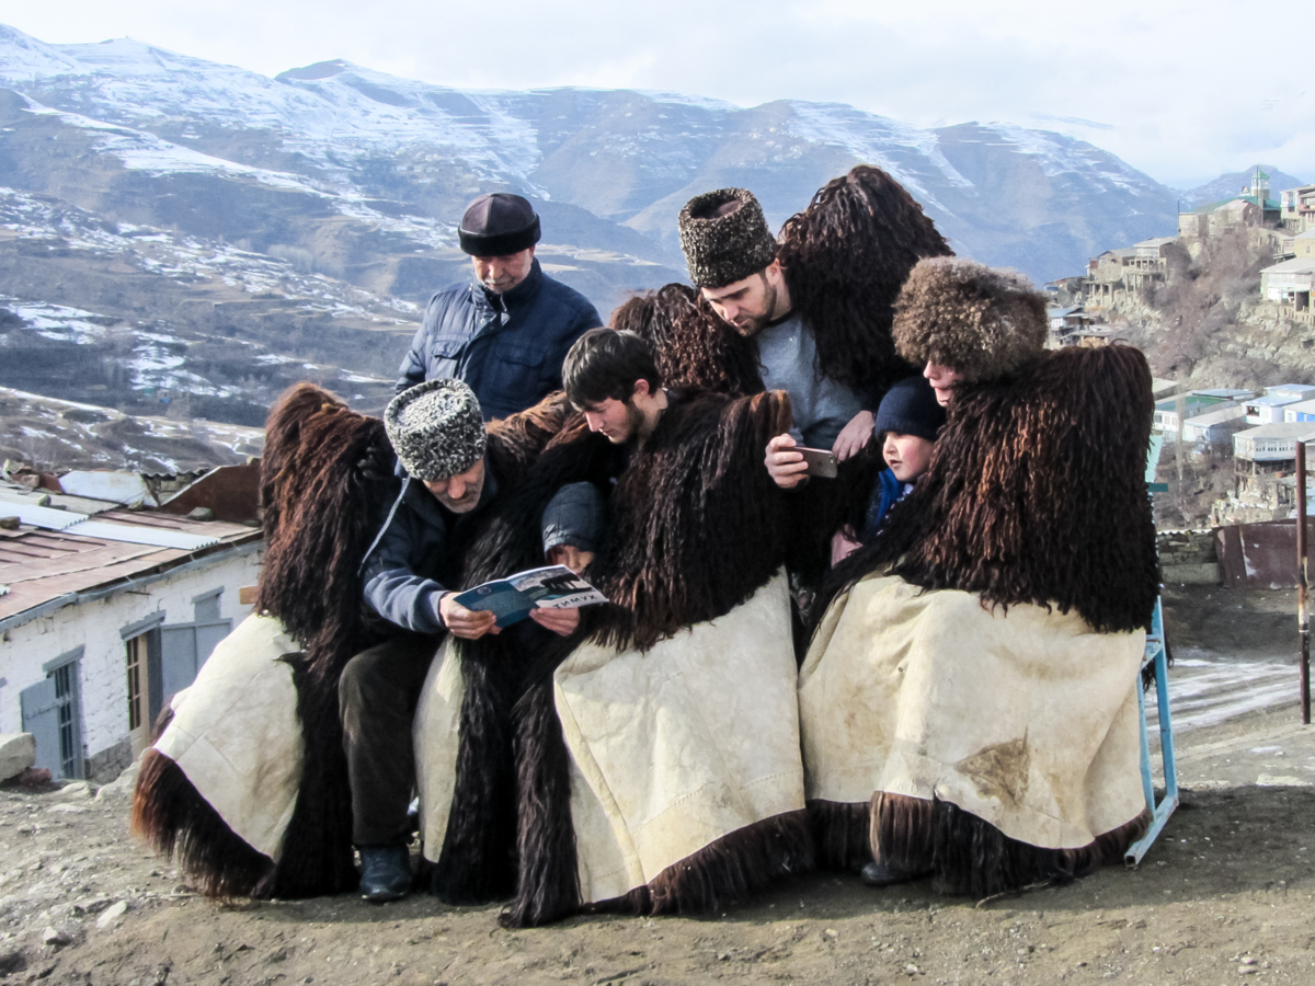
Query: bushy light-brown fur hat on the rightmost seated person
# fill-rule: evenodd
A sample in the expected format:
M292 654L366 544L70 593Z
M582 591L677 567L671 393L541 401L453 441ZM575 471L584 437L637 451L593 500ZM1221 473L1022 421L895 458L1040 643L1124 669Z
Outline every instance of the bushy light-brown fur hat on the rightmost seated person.
M964 380L1011 373L1045 344L1045 296L1014 271L938 256L919 260L896 301L896 350Z

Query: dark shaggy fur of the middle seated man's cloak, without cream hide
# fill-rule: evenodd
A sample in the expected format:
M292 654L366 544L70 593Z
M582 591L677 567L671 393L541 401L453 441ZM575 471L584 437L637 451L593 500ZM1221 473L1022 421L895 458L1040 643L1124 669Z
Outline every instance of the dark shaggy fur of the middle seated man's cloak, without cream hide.
M594 482L605 493L610 489L608 532L585 575L611 602L585 609L572 636L550 638L529 660L510 653L505 634L458 644L463 672L508 659L526 668L526 686L513 714L518 881L502 915L505 926L546 924L586 903L571 820L569 753L552 672L590 640L647 649L681 628L723 615L772 578L785 559L789 504L763 469L761 456L767 440L786 430L789 421L789 400L781 393L686 394L665 411L622 471L622 450L590 434L577 415L544 450L530 480L498 506L489 536L468 556L471 582L502 573L506 565L542 564L539 521L551 496L577 481ZM479 688L468 680L467 688L472 686ZM471 752L476 755L473 747ZM464 816L462 801L454 797L431 883L439 897L472 878L456 874L476 873L488 862L487 856L469 851L476 847L452 851L454 836L468 824L458 820L458 812ZM647 886L617 901L594 902L589 910L709 911L810 865L801 811L719 839Z

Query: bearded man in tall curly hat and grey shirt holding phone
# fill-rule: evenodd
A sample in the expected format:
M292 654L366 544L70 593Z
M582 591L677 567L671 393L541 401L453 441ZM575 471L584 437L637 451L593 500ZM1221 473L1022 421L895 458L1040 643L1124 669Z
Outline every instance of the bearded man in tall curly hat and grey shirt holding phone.
M721 188L694 196L680 213L689 276L711 309L757 342L763 385L790 394L796 433L781 448L831 448L847 459L872 438L867 398L817 369L817 339L796 310L777 242L752 192ZM790 452L797 456L797 452Z

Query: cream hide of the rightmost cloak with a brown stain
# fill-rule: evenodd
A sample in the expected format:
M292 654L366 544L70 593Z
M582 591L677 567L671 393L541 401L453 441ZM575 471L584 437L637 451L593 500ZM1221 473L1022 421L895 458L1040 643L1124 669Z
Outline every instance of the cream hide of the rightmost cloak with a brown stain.
M1022 843L1089 845L1145 809L1144 649L1144 632L1097 634L1076 613L869 576L800 669L807 797L938 799Z

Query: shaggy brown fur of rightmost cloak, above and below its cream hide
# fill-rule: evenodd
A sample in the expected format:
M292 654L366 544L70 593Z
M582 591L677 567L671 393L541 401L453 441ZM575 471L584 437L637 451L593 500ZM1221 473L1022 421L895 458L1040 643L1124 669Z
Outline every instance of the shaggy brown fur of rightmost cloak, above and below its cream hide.
M1049 352L1007 377L960 384L927 472L877 540L836 565L817 613L889 571L977 593L984 607L1076 610L1098 632L1147 627L1160 584L1144 481L1152 411L1145 358L1124 346ZM948 802L877 791L871 805L809 809L825 865L876 855L977 897L1115 861L1145 822L1060 851L1009 839Z

